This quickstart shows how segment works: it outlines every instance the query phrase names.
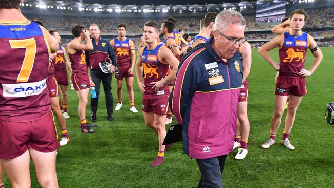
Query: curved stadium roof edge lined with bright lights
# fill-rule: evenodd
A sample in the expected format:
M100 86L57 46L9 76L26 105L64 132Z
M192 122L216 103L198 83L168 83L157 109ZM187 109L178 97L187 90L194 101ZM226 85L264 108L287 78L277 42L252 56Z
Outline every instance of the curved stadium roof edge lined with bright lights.
M203 1L199 1L200 3L196 3L198 1L192 0L191 3L187 3L187 1L176 2L175 4L170 4L174 1L164 1L164 4L160 4L158 2L153 1L137 1L131 0L132 3L136 4L125 4L129 0L122 0L121 4L116 4L118 0L113 1L113 4L105 4L110 3L110 1L104 0L85 0L83 3L78 2L80 0L24 0L21 4L22 7L27 8L41 8L41 9L60 9L65 11L95 11L95 12L198 12L198 11L220 11L223 9L238 9L240 11L246 10L249 8L255 8L256 5L259 4L271 4L271 3L313 3L314 1L320 2L320 0L257 0L257 1L228 1L228 2L220 2L220 3L206 3L203 4ZM94 3L86 3L86 2L94 2ZM130 2L130 1L129 1ZM146 4L143 4L145 3ZM150 3L147 3L150 2ZM208 0L208 2L210 2ZM212 2L218 2L212 0ZM152 4L157 3L157 4ZM181 3L181 5L180 5Z

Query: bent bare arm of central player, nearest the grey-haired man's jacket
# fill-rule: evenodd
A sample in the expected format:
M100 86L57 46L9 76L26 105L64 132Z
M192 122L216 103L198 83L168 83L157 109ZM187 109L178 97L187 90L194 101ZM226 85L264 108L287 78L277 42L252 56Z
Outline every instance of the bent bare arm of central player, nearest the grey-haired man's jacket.
M158 58L162 59L163 62L168 63L170 67L172 67L172 71L166 78L162 78L158 82L151 82L151 84L153 84L152 89L156 91L176 78L177 67L180 63L179 60L173 55L171 50L169 50L167 47L161 46L159 50L161 51L158 53Z

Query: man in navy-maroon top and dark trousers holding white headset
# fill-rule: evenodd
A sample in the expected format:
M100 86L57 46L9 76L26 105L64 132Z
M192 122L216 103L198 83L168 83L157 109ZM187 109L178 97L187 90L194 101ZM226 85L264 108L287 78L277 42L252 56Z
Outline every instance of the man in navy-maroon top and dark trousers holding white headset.
M107 107L108 120L114 120L113 117L113 96L112 96L112 74L116 68L115 53L110 43L100 37L100 29L97 24L91 24L89 27L93 50L86 51L86 61L90 68L91 80L95 84L96 98L90 98L91 121L96 121L96 111L98 109L98 101L100 94L100 84L102 81L105 93L105 104ZM104 73L99 67L99 62L109 62L112 64L110 73ZM110 62L111 61L111 62Z

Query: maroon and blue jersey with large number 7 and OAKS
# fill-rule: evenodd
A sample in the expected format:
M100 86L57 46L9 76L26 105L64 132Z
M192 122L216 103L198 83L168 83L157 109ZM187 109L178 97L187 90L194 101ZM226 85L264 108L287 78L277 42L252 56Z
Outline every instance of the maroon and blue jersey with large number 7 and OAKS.
M0 119L29 122L51 110L46 88L50 47L31 21L0 21Z

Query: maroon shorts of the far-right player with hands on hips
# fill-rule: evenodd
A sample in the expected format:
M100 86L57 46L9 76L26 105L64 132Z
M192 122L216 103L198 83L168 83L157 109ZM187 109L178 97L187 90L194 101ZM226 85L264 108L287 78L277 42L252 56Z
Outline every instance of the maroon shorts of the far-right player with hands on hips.
M275 95L279 96L304 96L306 95L306 82L305 77L299 78L277 78Z

